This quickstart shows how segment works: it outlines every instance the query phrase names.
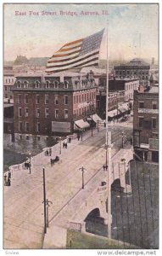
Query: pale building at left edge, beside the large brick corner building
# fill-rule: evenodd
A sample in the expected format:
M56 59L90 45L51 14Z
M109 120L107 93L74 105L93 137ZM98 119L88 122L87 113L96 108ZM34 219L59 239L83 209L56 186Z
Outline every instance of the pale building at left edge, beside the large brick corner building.
M11 66L3 67L3 99L4 102L13 102L13 87L15 82L14 70Z

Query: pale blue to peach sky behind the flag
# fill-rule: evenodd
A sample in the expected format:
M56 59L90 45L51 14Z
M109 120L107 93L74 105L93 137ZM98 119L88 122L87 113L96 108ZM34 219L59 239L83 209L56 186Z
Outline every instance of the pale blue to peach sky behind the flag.
M53 15L42 15L43 11L53 12ZM61 15L60 11L71 15ZM98 12L98 15L86 12ZM141 56L158 60L159 6L155 3L4 4L4 60L14 60L17 55L27 58L51 56L63 44L102 30L108 18L110 59L128 60ZM100 58L105 55L106 33Z

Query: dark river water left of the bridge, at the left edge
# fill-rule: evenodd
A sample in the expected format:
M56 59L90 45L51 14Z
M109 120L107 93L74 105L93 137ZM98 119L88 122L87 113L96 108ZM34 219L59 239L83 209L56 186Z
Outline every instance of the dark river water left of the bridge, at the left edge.
M26 154L19 154L8 149L3 150L3 172L8 171L8 166L23 163L26 160Z

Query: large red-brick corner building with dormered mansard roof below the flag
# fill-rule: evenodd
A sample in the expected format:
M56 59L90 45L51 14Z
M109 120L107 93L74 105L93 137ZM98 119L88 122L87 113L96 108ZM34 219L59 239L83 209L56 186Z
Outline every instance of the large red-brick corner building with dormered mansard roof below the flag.
M22 74L13 92L15 139L70 134L96 108L92 73Z

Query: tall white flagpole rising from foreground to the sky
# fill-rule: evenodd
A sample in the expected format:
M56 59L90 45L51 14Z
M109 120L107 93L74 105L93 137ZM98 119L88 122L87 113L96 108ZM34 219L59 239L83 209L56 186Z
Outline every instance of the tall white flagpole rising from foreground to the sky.
M109 50L108 50L108 36L109 36L109 20L107 21L107 65L106 65L106 166L107 170L107 186L108 186L108 238L111 239L111 131L108 129L108 110L109 110ZM108 163L108 165L107 165Z

